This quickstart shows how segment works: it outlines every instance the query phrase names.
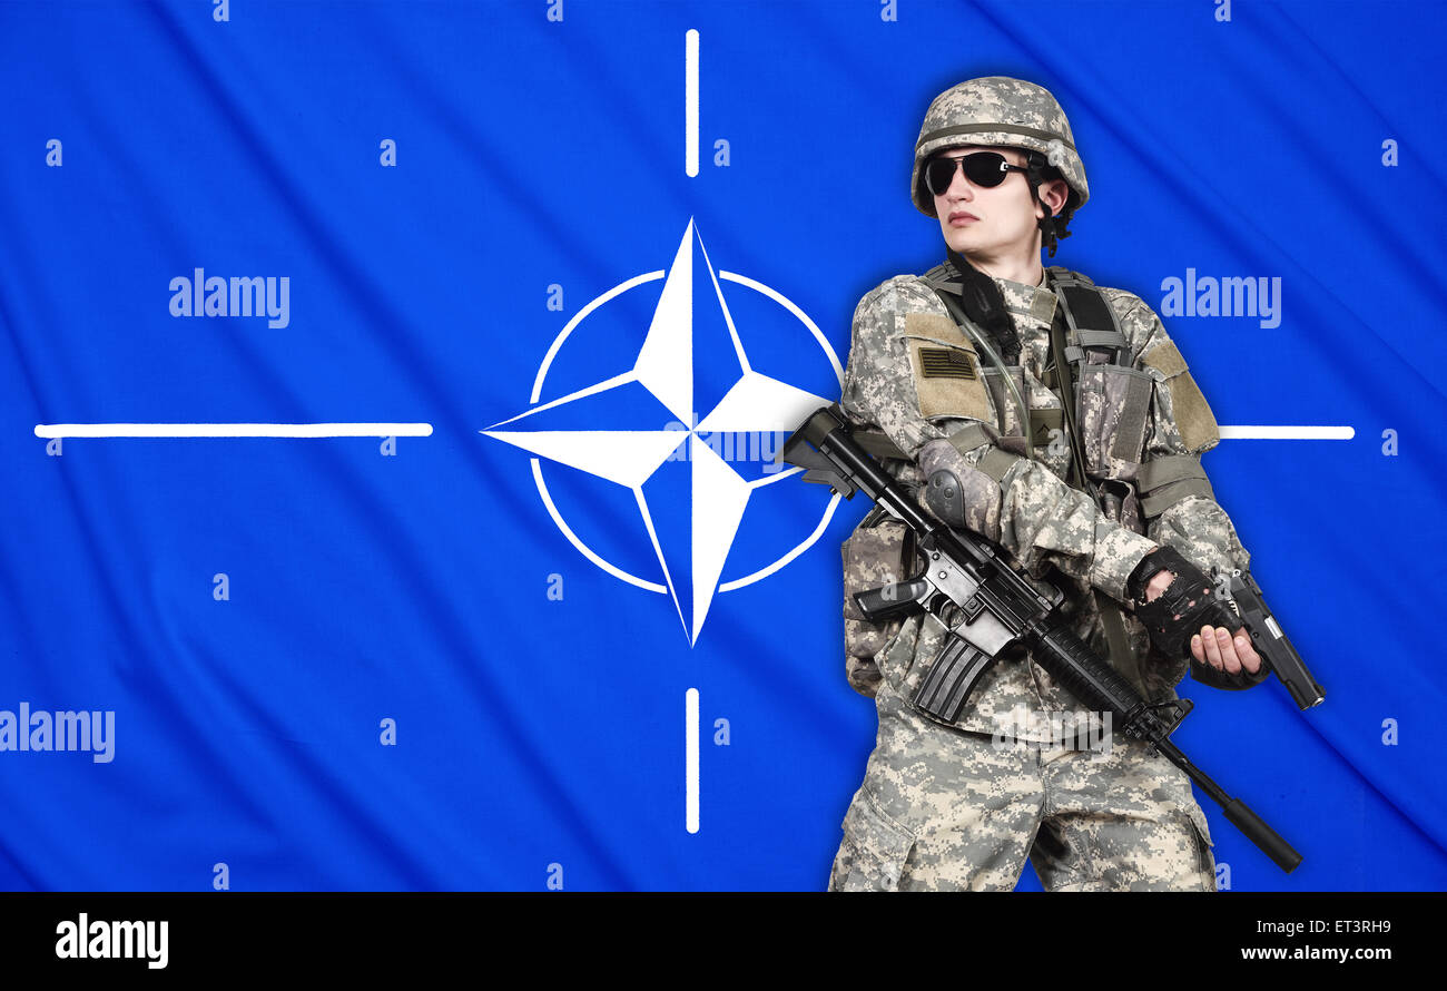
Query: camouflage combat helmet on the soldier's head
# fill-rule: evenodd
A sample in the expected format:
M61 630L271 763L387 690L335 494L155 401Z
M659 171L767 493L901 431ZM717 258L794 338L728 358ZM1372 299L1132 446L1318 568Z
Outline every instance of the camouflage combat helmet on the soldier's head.
M935 152L956 145L1003 145L1039 152L1071 187L1066 216L1090 198L1071 123L1045 87L1007 75L987 75L967 80L935 97L915 143L915 172L910 176L910 198L928 217L936 214L935 198L923 184L925 162Z

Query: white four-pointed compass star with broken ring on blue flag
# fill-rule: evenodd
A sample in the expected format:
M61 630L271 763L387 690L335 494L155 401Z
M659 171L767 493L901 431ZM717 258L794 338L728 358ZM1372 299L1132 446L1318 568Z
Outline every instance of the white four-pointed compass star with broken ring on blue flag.
M644 527L653 541L654 554L663 569L664 584L638 579L587 548L556 511L543 482L538 460L532 459L532 475L538 492L563 534L589 560L615 577L638 587L667 592L673 597L690 644L697 642L715 592L751 584L787 564L823 532L833 508L838 505L838 496L831 499L815 531L771 566L739 580L719 583L752 492L786 479L797 473L799 469L745 479L715 450L718 447L716 438L729 433L741 437L760 437L765 433L784 434L793 431L810 412L828 405L826 399L786 385L750 366L734 317L719 288L721 278L763 292L797 317L810 330L829 359L835 378L842 382L844 372L839 359L813 321L773 289L739 275L715 272L708 252L703 249L703 242L690 220L667 273L650 272L629 279L579 311L553 341L543 366L538 369L531 396L534 407L480 431L488 437L495 437L532 454L608 479L632 490ZM599 305L654 279L664 279L663 292L632 367L561 398L538 404L547 369L573 328ZM716 310L699 305L703 302L715 302ZM718 327L726 328L726 337L731 343L726 378L732 380L732 385L724 391L722 396L716 395L718 388L713 388L713 394L710 394L712 383L705 382L697 375L700 367L697 352L700 349L696 346L696 324L699 321L705 324L713 321ZM734 376L734 362L737 362L737 378ZM715 378L721 372L718 367L721 363L712 362L709 366L709 372ZM671 424L671 428L519 430L521 421L528 417L580 404L592 396L625 386L641 386L651 394L673 415L676 422ZM709 408L702 420L696 414L700 407ZM715 438L713 443L705 443L700 434L710 435ZM683 450L684 444L686 450ZM644 495L644 485L648 479L671 460L687 460L689 464L692 501L687 548L666 548L667 541L660 540L658 528L654 525L654 511L650 509L650 502ZM683 541L676 543L682 544Z

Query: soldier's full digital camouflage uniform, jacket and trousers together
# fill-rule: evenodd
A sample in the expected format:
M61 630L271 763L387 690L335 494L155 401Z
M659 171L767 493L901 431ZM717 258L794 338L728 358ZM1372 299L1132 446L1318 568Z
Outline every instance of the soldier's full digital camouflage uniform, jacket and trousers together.
M983 133L978 143L1020 142ZM930 275L938 282L941 269ZM904 459L886 466L903 483L919 486L936 467L951 467L967 493L967 525L1061 587L1072 632L1110 657L1100 597L1124 600L1127 577L1159 544L1204 571L1246 569L1249 556L1200 472L1200 454L1218 443L1210 408L1160 318L1121 289L1103 294L1132 360L1087 366L1075 383L1087 472L1110 480L1104 511L1066 485L1068 440L1040 428L1059 422L1062 405L1052 388L1055 369L1048 369L1056 310L1051 285L1062 276L1079 278L1052 268L1046 286L994 279L1020 336L1020 365L1009 372L1036 430L1020 422L998 372L980 360L920 276L896 276L860 302L841 407L858 427L880 430L899 447ZM968 352L980 375L932 376L925 357L941 349ZM1123 415L1127 395L1143 417ZM984 435L978 427L965 430L971 425ZM1023 457L1026 444L1033 460ZM1152 475L1178 480L1158 485ZM901 537L894 522L857 531L845 544L846 587L916 570L903 560ZM909 705L941 652L942 624L916 615L878 628L851 611L846 603L848 676L857 690L875 696L878 741L844 820L832 890L1010 890L1032 852L1051 890L1215 888L1210 830L1182 771L1124 733L1101 754L1071 741L1061 747L1052 733L1020 725L1022 710L1081 709L1022 647L996 661L959 719L946 725ZM1174 686L1194 667L1189 658L1156 651L1129 609L1123 624L1129 650L1116 658L1121 674L1147 700L1175 699Z

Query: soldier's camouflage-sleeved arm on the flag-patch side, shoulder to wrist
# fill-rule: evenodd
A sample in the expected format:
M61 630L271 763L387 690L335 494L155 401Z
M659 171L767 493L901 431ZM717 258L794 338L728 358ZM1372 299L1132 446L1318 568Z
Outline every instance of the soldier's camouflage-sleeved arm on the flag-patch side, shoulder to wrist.
M910 298L912 292L919 289L893 279L855 310L845 412L880 427L926 479L941 469L955 475L962 519L948 522L998 541L1027 569L1049 561L1123 600L1126 579L1158 544L1111 521L1048 467L990 443L983 420L961 409L941 414L936 404L922 401L907 314L929 302Z

